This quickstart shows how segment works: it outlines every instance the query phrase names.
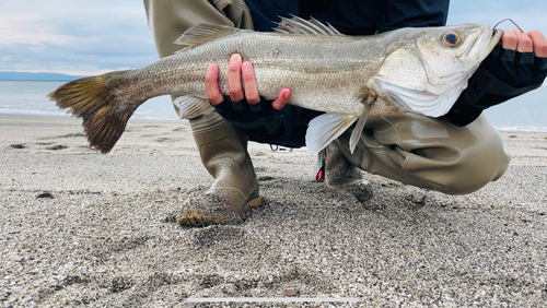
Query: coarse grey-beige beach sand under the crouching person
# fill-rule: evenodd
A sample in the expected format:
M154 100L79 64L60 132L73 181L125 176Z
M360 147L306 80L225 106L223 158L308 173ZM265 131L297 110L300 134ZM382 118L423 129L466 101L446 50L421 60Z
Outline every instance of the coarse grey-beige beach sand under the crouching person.
M78 119L0 116L0 304L545 307L547 133L503 138L511 166L478 192L365 175L363 203L314 181L305 149L252 143L261 206L183 228L174 214L211 180L187 123L130 121L100 155ZM358 303L187 301L290 295Z

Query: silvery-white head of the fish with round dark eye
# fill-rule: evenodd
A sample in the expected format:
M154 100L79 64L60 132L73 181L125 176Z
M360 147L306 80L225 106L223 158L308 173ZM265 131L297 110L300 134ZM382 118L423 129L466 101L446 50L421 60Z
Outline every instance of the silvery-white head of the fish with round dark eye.
M401 29L374 81L399 108L443 116L501 35L481 24Z

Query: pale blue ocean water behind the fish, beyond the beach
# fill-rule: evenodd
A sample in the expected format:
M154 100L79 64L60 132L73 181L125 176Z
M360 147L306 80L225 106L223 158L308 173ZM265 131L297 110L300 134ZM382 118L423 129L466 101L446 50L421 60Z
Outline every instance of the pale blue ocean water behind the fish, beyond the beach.
M46 95L65 82L0 81L0 114L45 117L70 117ZM486 110L490 122L500 131L547 132L547 86L513 98ZM143 104L133 119L177 120L168 96L152 98Z

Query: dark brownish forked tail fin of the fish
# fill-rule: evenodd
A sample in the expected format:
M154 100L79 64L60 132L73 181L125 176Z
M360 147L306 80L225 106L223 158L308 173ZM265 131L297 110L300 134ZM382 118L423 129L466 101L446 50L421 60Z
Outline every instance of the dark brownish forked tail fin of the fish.
M124 102L117 95L115 86L107 86L107 81L121 80L125 72L74 80L48 95L59 108L68 108L69 112L83 119L82 126L90 146L101 153L107 153L114 147L127 121L140 105Z

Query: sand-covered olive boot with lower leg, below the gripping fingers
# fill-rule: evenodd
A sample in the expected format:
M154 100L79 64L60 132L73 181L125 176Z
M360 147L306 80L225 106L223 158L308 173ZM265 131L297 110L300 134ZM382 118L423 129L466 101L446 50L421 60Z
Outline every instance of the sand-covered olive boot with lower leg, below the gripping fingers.
M217 112L190 120L203 166L214 178L205 194L184 202L177 222L183 226L240 223L248 206L261 202L246 137Z

